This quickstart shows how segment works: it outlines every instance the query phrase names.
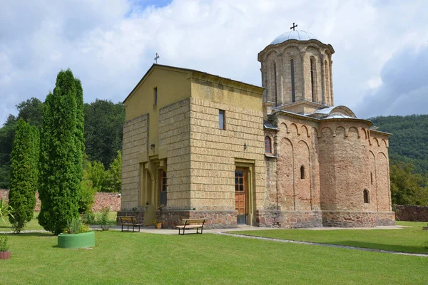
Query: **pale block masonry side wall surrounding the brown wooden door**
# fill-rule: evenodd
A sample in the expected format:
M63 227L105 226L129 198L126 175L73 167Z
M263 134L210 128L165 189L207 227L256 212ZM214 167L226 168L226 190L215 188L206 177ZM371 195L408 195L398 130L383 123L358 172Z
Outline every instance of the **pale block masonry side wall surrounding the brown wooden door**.
M210 98L210 92L216 91L206 88L205 92ZM234 211L237 161L248 162L253 170L250 183L255 204L249 207L263 207L266 199L263 112L200 98L190 100L191 207ZM219 129L219 110L225 110L225 130Z

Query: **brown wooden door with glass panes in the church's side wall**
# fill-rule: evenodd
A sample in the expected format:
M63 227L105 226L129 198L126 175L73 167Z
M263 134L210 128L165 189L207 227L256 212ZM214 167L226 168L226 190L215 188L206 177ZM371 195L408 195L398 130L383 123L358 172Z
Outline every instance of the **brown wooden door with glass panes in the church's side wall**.
M238 224L248 222L248 170L237 167L235 170L235 209L238 211Z

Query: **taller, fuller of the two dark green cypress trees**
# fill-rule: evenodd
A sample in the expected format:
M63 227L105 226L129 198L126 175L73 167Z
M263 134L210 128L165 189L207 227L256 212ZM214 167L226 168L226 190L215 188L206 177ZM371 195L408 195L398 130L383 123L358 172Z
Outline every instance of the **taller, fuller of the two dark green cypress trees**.
M76 82L69 69L60 71L54 92L46 96L44 104L39 163L39 224L54 234L60 234L68 221L78 217L83 175L78 133L83 133L83 128L79 129L83 118L77 108L81 85L76 87Z

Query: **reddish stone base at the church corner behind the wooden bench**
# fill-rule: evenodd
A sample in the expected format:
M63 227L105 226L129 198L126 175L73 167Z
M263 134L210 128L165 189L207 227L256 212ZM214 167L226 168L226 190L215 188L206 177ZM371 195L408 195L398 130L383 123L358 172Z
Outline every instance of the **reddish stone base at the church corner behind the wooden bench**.
M166 229L174 228L183 219L208 219L204 225L206 229L230 229L238 227L236 223L236 211L163 210L161 219L162 226Z

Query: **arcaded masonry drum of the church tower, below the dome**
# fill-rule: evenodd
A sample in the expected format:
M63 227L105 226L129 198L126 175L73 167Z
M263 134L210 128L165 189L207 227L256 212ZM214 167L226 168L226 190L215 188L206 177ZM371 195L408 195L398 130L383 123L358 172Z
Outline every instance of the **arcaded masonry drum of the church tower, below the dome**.
M289 41L259 53L262 85L267 88L263 101L277 105L292 103L291 60L294 61L295 100L312 101L311 58L315 64L314 102L332 106L332 56L325 45L315 42L308 46Z

